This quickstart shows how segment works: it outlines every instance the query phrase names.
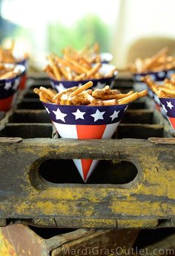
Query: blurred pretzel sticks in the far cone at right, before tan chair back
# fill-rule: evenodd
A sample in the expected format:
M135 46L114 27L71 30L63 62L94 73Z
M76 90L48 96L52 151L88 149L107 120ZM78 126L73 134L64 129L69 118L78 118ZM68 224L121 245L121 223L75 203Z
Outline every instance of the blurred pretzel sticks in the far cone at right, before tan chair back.
M158 72L175 68L175 57L168 56L168 47L162 48L150 58L137 58L129 69L133 73Z

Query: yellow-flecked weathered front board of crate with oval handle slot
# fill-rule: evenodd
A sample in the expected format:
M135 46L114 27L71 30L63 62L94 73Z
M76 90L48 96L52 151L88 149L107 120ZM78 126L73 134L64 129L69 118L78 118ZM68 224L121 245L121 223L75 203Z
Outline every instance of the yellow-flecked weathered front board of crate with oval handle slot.
M67 223L73 227L73 223L74 226L78 223L105 228L116 227L117 221L125 220L123 226L127 228L130 225L127 220L149 223L149 220L175 218L174 144L140 139L35 138L10 143L9 138L7 141L1 138L1 141L1 219L56 218L57 226ZM46 159L90 158L129 161L138 174L125 185L56 184L37 174ZM62 173L64 168L58 166L55 171ZM133 224L138 226L139 222Z

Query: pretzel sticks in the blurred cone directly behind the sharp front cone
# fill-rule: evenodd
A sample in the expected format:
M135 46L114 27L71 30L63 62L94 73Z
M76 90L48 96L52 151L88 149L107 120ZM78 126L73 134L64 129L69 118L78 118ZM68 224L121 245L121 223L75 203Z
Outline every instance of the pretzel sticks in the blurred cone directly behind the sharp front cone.
M100 71L102 63L100 61L92 64L91 60L83 54L76 52L65 54L63 57L50 54L47 60L49 64L44 68L44 71L50 78L59 81L80 81L113 77L116 71L116 67L113 67L107 74L102 74L102 71Z

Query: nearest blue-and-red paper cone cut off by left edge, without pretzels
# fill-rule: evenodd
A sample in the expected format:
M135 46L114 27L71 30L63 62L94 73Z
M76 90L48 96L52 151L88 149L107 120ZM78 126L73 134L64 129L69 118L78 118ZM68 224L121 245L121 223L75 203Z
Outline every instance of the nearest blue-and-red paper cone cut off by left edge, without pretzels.
M13 66L10 64L4 64L7 67ZM10 79L0 80L0 111L7 111L13 106L16 98L16 92L19 89L19 85L24 74L24 65L16 65L16 70L20 71L16 77Z

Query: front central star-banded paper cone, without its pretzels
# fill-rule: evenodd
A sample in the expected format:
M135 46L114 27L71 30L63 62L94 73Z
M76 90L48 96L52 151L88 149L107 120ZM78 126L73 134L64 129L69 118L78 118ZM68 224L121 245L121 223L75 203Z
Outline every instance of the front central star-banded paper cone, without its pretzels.
M43 103L62 138L111 138L128 104L116 106L66 106ZM93 159L73 159L86 182L98 164Z

